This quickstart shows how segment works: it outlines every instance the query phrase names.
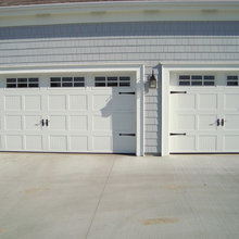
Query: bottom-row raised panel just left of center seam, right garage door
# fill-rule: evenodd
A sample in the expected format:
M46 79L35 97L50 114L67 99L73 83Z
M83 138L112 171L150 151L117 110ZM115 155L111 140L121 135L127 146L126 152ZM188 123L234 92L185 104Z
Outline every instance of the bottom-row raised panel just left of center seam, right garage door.
M217 149L217 136L199 136L198 149L201 152L215 152Z

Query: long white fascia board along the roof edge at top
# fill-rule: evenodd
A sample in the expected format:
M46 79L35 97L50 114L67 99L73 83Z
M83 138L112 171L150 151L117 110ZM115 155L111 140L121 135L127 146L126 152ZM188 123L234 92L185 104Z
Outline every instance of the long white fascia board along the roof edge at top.
M35 15L42 13L71 14L92 12L125 12L125 11L174 11L174 10L238 10L239 1L209 2L87 2L39 5L1 7L0 16Z

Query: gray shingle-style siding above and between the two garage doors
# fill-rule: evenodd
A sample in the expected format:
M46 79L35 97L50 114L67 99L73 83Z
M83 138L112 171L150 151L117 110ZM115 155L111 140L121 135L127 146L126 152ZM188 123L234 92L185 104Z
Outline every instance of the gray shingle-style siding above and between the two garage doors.
M144 150L161 149L162 61L239 61L239 22L98 23L0 28L0 65L142 63L159 88L146 86Z

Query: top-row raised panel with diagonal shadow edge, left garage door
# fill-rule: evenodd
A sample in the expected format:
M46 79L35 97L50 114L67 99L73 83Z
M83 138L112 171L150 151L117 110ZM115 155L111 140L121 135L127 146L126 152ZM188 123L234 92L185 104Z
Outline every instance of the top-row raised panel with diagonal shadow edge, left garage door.
M111 111L112 110L112 96L110 95L95 95L92 97L92 110L93 111Z

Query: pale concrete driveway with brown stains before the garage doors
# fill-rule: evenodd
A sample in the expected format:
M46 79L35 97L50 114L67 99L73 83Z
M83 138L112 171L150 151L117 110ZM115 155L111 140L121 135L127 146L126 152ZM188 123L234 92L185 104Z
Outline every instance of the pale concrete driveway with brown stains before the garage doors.
M239 155L0 153L1 239L238 239Z

